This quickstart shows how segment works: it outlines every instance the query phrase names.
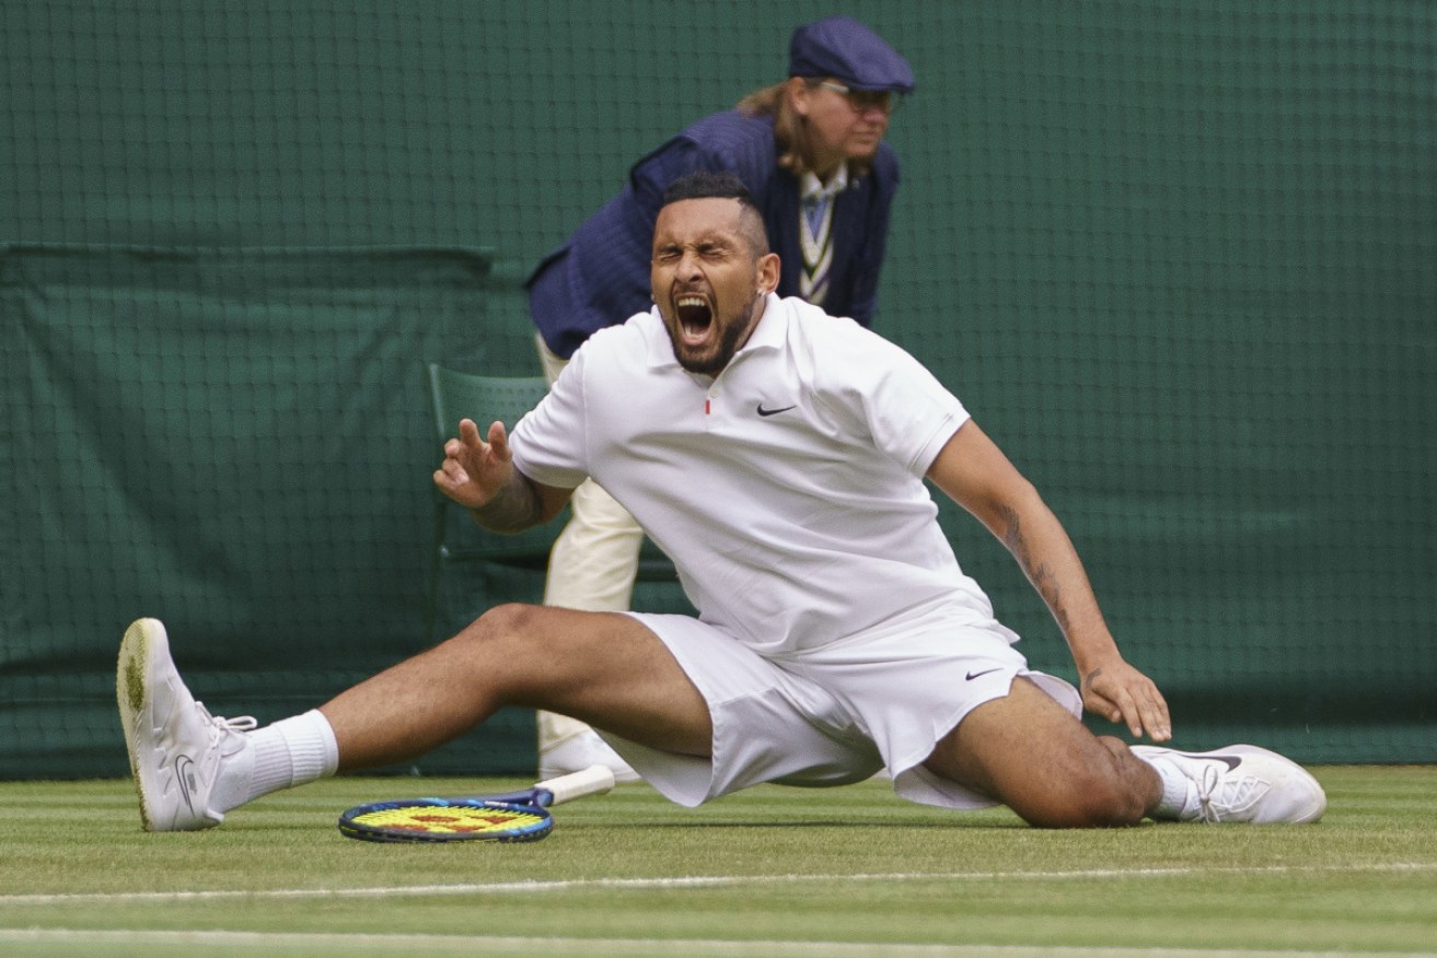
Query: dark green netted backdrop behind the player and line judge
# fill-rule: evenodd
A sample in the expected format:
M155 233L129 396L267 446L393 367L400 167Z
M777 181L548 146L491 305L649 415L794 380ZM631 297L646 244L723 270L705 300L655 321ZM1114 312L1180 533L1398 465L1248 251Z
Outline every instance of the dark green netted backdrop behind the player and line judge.
M1437 7L62 0L0 7L0 776L125 771L139 615L264 721L421 648L422 363L535 375L527 269L832 11L920 82L878 326L1045 490L1180 741L1437 758ZM526 771L527 722L418 768Z

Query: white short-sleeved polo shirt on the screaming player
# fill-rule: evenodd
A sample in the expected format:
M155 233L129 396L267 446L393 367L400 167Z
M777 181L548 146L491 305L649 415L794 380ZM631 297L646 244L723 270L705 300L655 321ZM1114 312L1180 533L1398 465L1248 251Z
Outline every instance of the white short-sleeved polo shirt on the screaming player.
M923 483L967 419L898 346L770 294L716 378L678 365L657 309L601 329L512 447L546 485L592 475L704 622L782 656L940 600L992 616Z

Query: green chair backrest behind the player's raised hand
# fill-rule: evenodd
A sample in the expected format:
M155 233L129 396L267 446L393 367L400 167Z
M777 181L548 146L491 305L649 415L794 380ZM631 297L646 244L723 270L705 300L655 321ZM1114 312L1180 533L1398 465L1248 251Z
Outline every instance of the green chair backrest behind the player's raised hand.
M513 429L514 424L549 391L543 376L479 376L447 369L438 363L430 363L427 372L434 437L441 450L448 438L458 435L460 419L473 419L481 434L494 419ZM448 531L443 518L450 500L443 494L438 500L441 517L435 527L435 549L440 559L484 560L543 569L549 562L549 549L563 529L563 521L555 518L543 526L506 536L466 521L464 531L454 534Z

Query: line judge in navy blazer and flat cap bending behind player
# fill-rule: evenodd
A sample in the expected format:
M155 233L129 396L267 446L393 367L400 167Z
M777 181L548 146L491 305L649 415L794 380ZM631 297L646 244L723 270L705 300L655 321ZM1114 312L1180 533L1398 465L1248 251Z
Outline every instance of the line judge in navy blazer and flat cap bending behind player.
M549 382L595 330L650 307L654 218L668 184L697 169L737 174L763 208L782 296L872 323L900 171L885 136L898 101L914 89L912 69L867 24L832 16L793 30L785 76L642 157L624 190L543 259L527 289ZM627 610L644 530L592 481L569 507L549 556L545 605ZM540 777L595 761L619 780L634 777L582 722L540 711L537 725Z

